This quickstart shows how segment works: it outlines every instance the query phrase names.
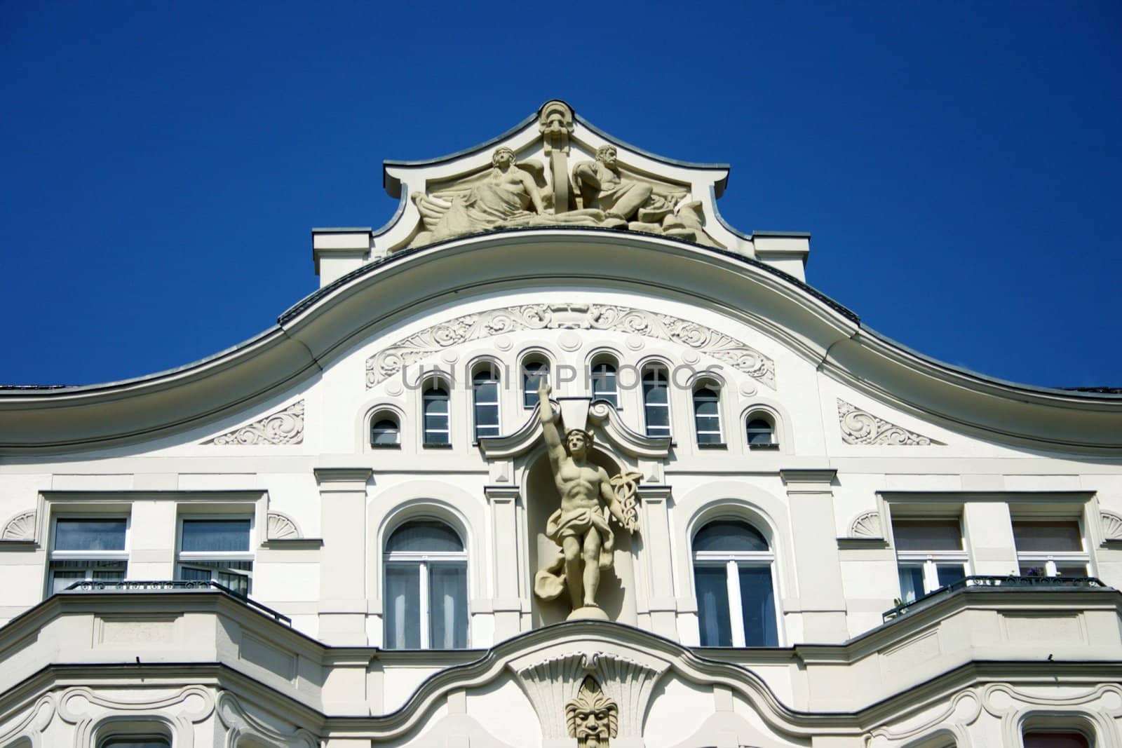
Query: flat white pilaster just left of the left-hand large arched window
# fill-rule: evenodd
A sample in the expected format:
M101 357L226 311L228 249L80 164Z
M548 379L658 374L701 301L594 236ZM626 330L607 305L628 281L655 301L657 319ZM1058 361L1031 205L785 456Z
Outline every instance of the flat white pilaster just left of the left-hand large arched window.
M366 646L366 486L369 468L316 468L323 548L320 552L320 639Z

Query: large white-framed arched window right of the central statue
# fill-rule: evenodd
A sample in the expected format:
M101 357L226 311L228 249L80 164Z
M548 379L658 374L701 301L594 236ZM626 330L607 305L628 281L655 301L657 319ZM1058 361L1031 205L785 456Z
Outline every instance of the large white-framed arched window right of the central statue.
M772 565L760 530L738 519L711 521L693 536L693 583L702 647L779 645Z

